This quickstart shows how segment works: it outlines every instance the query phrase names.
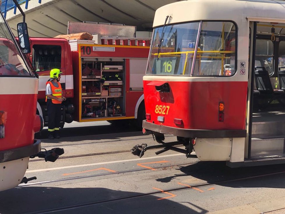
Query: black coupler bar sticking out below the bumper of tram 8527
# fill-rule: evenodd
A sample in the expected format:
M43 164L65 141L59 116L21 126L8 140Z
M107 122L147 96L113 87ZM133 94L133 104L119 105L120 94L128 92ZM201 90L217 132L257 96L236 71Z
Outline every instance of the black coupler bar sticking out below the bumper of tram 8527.
M156 139L156 141L161 143L161 144L160 145L153 145L153 146L147 146L147 144L145 144L145 143L142 145L137 144L131 149L131 152L133 155L137 155L140 158L143 157L146 150L157 149L157 148L163 148L163 149L155 152L156 155L159 155L159 154L166 152L168 150L173 150L175 152L184 153L186 155L188 154L188 152L186 150L174 147L175 145L183 145L181 143L181 141L174 141L174 142L170 142L170 143L165 143L165 142L160 141L158 139Z

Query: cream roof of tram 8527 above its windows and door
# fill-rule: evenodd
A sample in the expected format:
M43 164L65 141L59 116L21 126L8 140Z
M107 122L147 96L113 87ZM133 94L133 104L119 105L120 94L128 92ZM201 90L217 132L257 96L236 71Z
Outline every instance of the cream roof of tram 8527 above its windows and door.
M283 0L186 0L156 10L153 27L163 26L167 15L171 24L196 20L232 20L238 25L246 19L285 23Z

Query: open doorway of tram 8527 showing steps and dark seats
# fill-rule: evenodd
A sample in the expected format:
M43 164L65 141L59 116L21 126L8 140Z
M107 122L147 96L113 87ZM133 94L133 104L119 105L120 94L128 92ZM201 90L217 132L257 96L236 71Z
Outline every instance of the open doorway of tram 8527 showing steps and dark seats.
M249 38L251 98L245 157L281 161L285 158L285 24L251 22Z

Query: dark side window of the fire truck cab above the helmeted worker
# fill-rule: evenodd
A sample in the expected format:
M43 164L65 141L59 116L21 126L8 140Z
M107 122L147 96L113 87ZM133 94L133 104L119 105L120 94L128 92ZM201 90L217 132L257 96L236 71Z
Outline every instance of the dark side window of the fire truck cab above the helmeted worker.
M61 46L33 45L33 66L36 71L61 68Z

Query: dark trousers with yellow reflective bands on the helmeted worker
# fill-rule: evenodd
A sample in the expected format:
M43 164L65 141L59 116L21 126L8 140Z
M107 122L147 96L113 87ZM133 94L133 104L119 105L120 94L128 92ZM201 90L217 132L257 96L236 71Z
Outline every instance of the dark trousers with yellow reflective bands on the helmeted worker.
M48 133L52 135L58 134L61 120L61 104L54 104L51 99L47 99L47 116Z

